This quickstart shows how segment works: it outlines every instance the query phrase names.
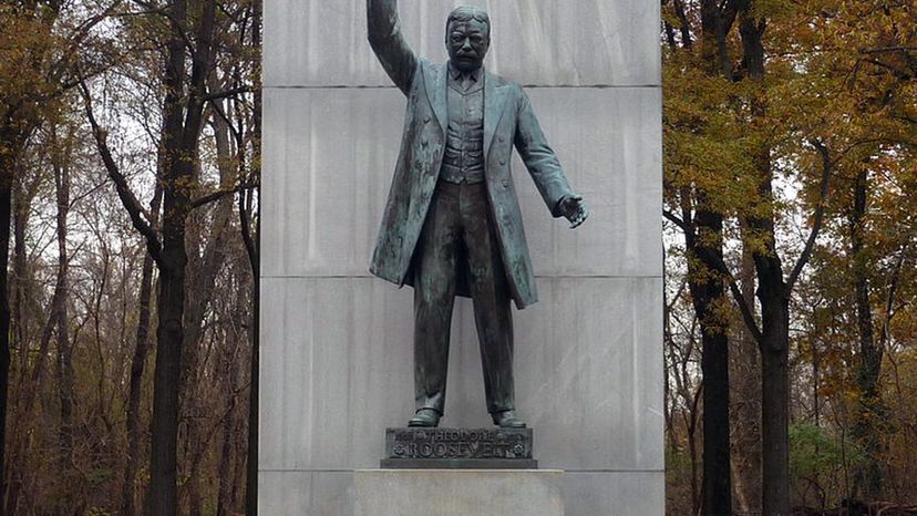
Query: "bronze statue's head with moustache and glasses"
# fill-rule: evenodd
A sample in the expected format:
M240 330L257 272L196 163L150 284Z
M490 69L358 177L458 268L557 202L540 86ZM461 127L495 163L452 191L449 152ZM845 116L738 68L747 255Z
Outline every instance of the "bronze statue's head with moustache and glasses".
M446 19L446 49L452 65L472 72L484 63L491 48L491 17L474 6L461 6Z

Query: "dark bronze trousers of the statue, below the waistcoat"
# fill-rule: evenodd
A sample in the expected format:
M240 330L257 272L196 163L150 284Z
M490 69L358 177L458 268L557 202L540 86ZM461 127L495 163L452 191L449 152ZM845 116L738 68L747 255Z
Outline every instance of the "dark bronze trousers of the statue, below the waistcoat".
M509 287L491 219L487 189L440 182L430 202L414 262L416 407L443 413L456 272L467 272L484 370L487 411L514 409Z

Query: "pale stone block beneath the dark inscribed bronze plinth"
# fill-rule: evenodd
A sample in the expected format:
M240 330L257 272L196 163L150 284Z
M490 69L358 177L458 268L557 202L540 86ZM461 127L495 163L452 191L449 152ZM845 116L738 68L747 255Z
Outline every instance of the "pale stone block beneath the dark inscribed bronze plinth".
M564 516L561 469L357 469L353 516Z

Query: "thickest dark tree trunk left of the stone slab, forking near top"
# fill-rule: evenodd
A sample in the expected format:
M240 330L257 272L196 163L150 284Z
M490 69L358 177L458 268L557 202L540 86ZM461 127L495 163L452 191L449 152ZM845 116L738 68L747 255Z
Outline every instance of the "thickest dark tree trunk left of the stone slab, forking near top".
M184 345L185 248L187 215L192 209L192 186L198 159L198 137L206 102L205 80L213 66L215 0L204 0L197 23L197 45L192 52L192 71L185 95L185 0L174 0L169 13L179 27L167 43L166 96L163 103L162 142L163 230L159 258L159 297L156 332L156 370L153 384L151 479L147 504L152 516L174 516L177 510L178 400L182 391Z

